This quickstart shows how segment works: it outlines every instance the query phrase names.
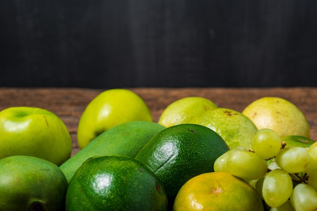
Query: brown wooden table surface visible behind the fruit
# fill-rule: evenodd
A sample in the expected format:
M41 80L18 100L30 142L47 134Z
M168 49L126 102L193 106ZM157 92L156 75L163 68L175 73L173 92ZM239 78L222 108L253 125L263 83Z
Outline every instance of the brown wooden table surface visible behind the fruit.
M200 96L219 107L239 112L254 100L275 96L294 103L306 116L310 138L317 140L317 88L127 88L138 94L148 105L153 121L175 100ZM82 88L0 88L0 110L12 106L41 107L57 114L66 124L73 143L72 154L79 149L77 124L88 103L104 90ZM296 125L294 125L296 126Z

